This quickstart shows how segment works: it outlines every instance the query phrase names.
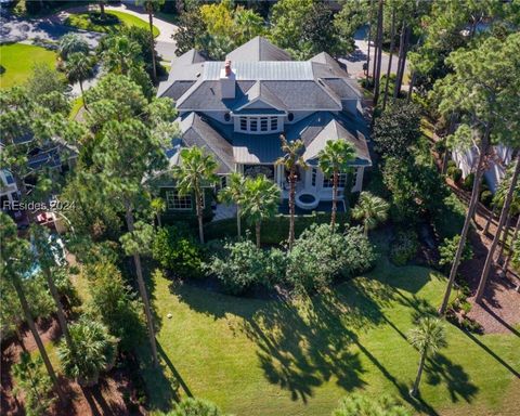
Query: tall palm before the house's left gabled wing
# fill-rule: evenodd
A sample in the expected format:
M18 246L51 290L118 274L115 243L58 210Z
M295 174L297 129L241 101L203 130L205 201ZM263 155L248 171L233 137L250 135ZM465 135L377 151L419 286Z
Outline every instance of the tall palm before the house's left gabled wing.
M181 151L181 164L173 170L179 194L195 196L200 243L204 243L204 186L217 182L217 168L218 165L212 155L205 155L200 147L193 146Z

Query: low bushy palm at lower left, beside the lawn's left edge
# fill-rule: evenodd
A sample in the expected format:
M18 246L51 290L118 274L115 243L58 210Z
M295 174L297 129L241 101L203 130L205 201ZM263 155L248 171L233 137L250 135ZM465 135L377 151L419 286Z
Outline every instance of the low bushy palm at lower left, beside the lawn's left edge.
M96 385L100 373L115 362L117 339L103 324L87 316L70 325L70 336L74 350L63 342L57 348L63 372L80 386Z

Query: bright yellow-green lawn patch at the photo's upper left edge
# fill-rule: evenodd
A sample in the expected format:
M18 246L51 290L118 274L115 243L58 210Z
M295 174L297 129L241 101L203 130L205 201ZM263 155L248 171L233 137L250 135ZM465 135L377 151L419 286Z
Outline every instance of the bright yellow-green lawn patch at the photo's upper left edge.
M56 54L44 48L24 43L0 47L0 65L5 72L0 75L0 88L11 88L24 83L31 75L35 64L54 65Z

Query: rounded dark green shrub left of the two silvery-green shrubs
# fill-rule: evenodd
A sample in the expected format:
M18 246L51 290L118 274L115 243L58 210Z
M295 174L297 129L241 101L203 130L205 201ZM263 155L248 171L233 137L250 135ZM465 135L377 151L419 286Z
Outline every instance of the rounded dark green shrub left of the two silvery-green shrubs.
M200 246L186 230L165 226L155 235L152 256L159 264L179 277L199 277L203 274Z

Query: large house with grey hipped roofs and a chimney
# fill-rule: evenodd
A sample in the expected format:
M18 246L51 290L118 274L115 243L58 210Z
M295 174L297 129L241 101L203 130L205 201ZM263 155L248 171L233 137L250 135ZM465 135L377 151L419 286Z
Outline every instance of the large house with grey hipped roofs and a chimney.
M179 112L182 135L168 153L170 164L180 162L181 147L202 146L219 162L219 185L234 171L263 173L287 198L286 172L275 165L283 155L281 134L306 145L310 168L298 173L296 195L302 209L332 200L332 179L317 166L327 141L346 139L356 151L352 177L344 173L339 180L340 195L350 186L361 191L364 170L372 165L358 84L327 53L292 61L262 37L230 52L225 62L207 61L191 50L172 62L158 95L173 99ZM165 194L168 210L194 208L191 197L179 196L174 187Z

